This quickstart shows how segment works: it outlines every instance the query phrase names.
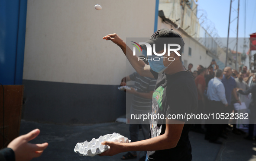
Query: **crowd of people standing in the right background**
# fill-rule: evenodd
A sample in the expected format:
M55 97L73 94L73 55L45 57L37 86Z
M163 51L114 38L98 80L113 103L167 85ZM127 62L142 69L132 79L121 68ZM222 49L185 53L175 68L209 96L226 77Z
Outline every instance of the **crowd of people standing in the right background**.
M250 106L247 109L250 109L249 119L249 135L245 139L253 140L253 128L254 128L254 117L255 117L255 106L254 98L256 94L256 86L253 84L251 88L249 87L249 78L253 77L252 81L255 82L255 75L250 73L250 70L247 69L247 66L239 68L239 71L232 69L231 67L225 67L222 71L219 69L215 60L212 60L210 65L207 68L204 68L202 65L197 66L197 70L192 72L193 64L188 65L188 70L194 77L194 81L198 90L198 113L200 111L203 113L217 112L236 114L238 111L235 110L234 104L246 101L247 95L252 93L252 101ZM204 129L205 127L205 129ZM227 128L232 129L232 132L241 135L245 134L242 130L237 129L236 120L231 126L224 124L223 122L219 123L205 123L205 126L202 126L200 123L194 124L191 130L198 133L205 133L206 140L209 142L222 144L219 141L219 137L227 139L228 130Z

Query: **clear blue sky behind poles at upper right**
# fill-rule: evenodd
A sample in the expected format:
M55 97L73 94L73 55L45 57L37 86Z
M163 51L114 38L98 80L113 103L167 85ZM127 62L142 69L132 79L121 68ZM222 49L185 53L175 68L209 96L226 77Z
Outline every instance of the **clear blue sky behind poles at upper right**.
M246 5L245 5L246 2ZM198 0L198 9L207 12L207 19L215 24L220 38L227 38L230 0ZM246 6L246 13L245 13ZM238 0L233 0L230 21L237 17ZM240 0L238 37L248 38L256 32L256 0ZM246 15L246 18L245 18ZM244 34L244 20L246 32ZM237 37L237 19L230 23L230 38Z

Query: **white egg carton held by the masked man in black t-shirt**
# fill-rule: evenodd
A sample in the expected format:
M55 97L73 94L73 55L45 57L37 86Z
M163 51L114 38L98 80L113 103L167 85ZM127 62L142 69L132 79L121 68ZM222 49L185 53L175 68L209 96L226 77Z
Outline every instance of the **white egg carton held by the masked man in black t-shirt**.
M109 149L109 146L102 145L101 142L111 141L111 142L121 142L128 143L131 142L128 138L120 135L119 133L107 134L100 136L98 139L93 138L91 142L78 142L75 145L74 152L78 153L80 156L90 156L101 154Z

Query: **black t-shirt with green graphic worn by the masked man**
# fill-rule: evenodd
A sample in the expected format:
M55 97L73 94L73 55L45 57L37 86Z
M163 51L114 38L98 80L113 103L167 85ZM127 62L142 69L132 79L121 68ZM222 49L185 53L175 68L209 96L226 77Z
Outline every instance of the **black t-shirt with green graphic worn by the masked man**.
M173 75L156 73L150 69L157 79L156 88L152 97L152 115L162 115L150 121L151 138L165 133L165 117L168 115L191 114L197 109L198 93L193 76L189 71L181 71ZM172 119L174 119L172 117ZM184 121L181 137L175 148L149 151L150 161L191 161L191 145L188 132L191 123L185 118L175 118Z

